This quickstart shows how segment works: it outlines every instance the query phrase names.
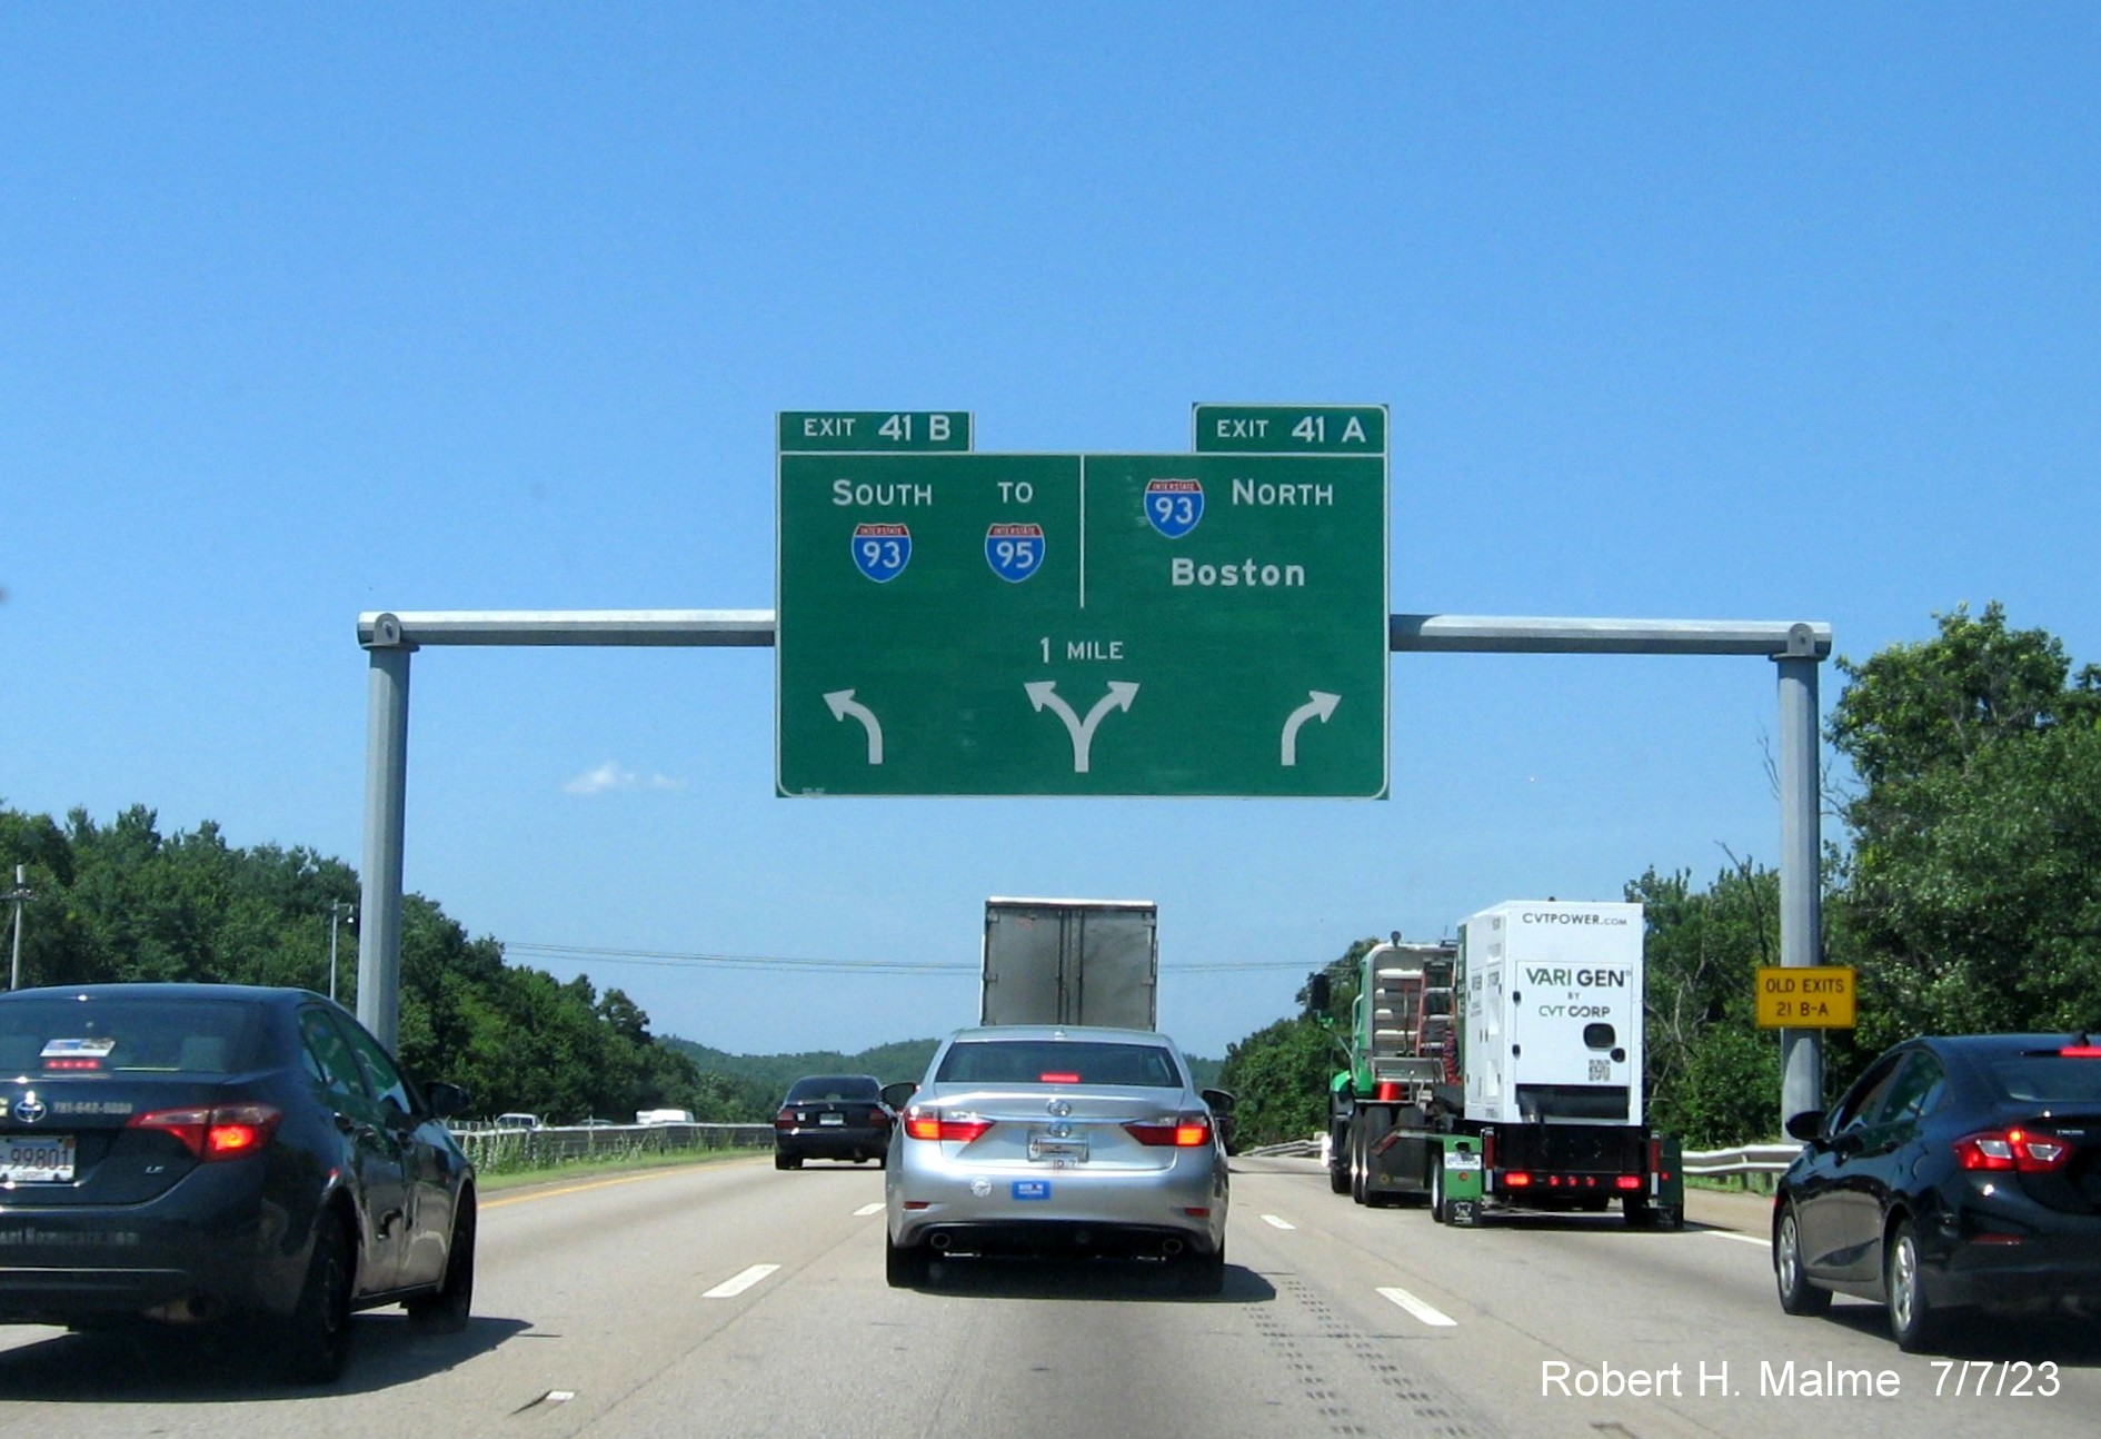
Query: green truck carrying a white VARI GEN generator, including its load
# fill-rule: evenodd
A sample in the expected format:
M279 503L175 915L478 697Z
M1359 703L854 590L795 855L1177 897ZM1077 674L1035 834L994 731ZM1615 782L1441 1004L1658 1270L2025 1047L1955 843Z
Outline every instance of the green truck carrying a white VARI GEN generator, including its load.
M1511 901L1458 941L1374 945L1328 1092L1328 1183L1357 1204L1685 1214L1679 1145L1643 1124L1641 905ZM1326 977L1315 977L1326 1008Z

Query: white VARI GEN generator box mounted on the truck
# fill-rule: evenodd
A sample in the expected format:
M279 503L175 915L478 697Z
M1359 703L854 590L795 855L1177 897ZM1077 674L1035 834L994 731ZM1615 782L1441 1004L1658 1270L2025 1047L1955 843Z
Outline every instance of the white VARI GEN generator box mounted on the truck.
M1460 926L1466 1120L1641 1124L1641 905L1513 899Z

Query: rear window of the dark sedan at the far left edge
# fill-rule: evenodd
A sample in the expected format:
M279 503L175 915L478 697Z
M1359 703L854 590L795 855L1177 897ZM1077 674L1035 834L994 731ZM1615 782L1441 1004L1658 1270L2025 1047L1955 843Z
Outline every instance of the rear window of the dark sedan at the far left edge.
M252 1021L231 1000L13 1000L0 1073L227 1073L248 1065Z

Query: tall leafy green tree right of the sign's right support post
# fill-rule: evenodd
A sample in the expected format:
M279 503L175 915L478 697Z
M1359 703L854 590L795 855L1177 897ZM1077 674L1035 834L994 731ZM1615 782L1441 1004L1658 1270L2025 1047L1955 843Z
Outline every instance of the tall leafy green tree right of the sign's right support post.
M2101 1021L2101 672L1998 603L1937 616L1853 679L1830 739L1859 773L1834 941L1861 1050L1920 1031Z

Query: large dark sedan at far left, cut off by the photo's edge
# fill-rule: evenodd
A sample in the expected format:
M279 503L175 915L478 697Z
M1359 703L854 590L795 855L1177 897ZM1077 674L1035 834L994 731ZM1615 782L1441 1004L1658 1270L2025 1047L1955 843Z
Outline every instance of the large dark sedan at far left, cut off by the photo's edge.
M305 989L0 994L0 1323L248 1326L315 1384L355 1309L460 1330L464 1103Z

